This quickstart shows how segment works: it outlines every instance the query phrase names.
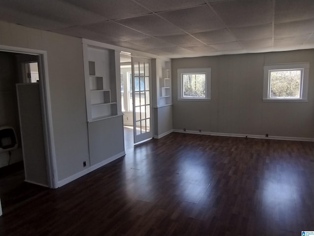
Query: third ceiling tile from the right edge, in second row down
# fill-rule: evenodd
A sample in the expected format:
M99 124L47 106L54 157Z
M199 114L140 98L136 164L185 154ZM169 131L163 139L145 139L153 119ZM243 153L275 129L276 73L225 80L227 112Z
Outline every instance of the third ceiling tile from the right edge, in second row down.
M228 29L218 29L207 32L193 33L194 37L200 39L206 44L227 43L236 41Z

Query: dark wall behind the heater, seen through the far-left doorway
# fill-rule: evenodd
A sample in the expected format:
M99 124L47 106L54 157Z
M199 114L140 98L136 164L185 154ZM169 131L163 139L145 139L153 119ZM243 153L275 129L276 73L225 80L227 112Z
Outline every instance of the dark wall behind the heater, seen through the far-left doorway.
M12 126L18 137L19 146L12 150L10 164L23 160L19 114L16 99L17 67L15 55L0 52L0 126ZM0 153L0 167L9 164L8 152Z

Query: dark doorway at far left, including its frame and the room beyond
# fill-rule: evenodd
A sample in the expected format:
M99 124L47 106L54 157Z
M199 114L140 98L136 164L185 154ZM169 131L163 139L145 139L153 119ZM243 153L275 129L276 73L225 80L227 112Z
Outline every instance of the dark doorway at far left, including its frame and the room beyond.
M0 198L6 214L47 187L55 188L56 176L47 53L0 45L0 61L0 129L16 135L0 135Z

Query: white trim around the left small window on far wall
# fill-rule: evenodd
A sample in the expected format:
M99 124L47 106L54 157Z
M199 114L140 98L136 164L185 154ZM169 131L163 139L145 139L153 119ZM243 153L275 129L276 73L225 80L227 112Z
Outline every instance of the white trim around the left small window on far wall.
M179 68L178 72L178 100L179 101L210 101L211 90L211 68L199 67L199 68ZM185 98L183 97L182 90L182 74L206 74L206 97L205 98Z

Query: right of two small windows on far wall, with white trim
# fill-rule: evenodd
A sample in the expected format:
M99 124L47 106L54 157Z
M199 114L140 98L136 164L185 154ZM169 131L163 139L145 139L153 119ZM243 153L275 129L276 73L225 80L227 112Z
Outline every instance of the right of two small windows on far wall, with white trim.
M264 66L264 101L307 101L309 63Z

